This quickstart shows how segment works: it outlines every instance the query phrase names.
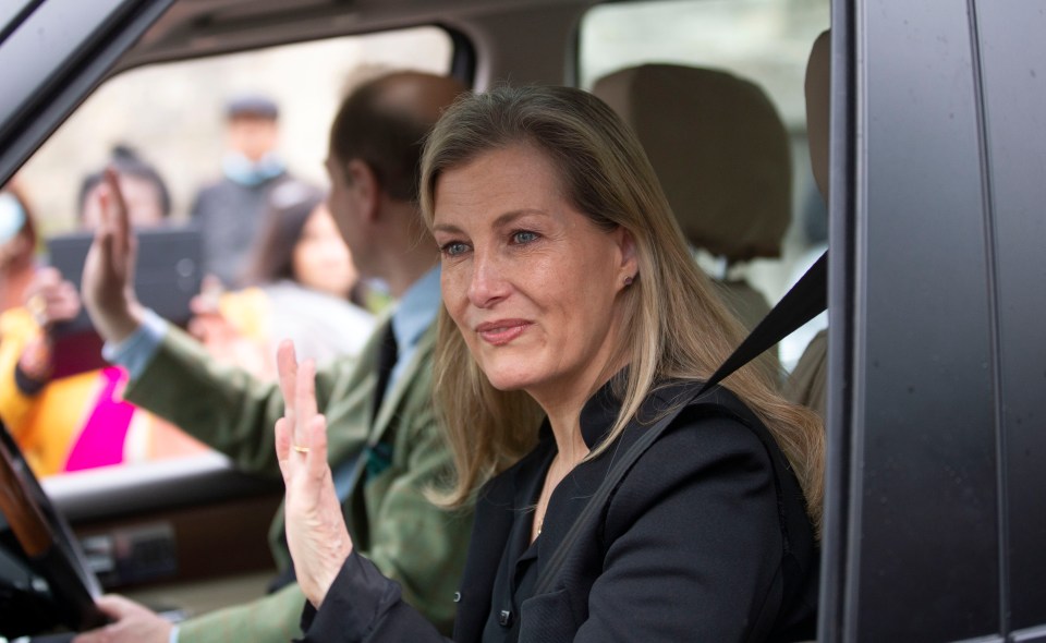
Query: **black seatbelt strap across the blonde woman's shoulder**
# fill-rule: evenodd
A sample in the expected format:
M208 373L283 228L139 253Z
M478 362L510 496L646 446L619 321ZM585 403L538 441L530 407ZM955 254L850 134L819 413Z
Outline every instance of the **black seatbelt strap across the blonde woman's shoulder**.
M567 560L570 550L580 537L589 521L596 520L606 505L607 498L613 489L621 483L624 474L635 464L636 460L654 444L661 435L665 428L676 416L679 415L693 400L711 390L717 384L729 377L734 371L744 366L753 359L757 357L764 351L778 343L803 324L806 324L825 308L828 307L828 252L825 251L820 258L806 270L803 277L792 286L791 290L777 302L766 317L759 322L758 326L749 333L749 337L741 342L733 353L719 366L718 369L708 378L704 385L697 389L689 399L680 400L681 403L662 416L657 424L643 432L643 435L635 440L635 444L625 451L624 456L618 460L607 472L596 493L589 498L588 504L582 509L574 524L563 537L547 563L542 565L542 572L538 575L537 584L534 589L534 595L545 594L551 591L551 584L559 570Z

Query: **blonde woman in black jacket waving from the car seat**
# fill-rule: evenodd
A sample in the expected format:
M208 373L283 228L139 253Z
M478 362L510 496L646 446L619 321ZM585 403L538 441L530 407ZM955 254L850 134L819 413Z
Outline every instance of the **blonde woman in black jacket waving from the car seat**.
M442 253L436 395L458 468L443 499L476 501L454 639L812 638L823 433L752 368L716 391L721 412L679 413L534 595L616 456L740 339L632 133L577 89L476 95L427 142L421 197ZM305 640L438 640L353 553L312 364L283 345L280 371Z

